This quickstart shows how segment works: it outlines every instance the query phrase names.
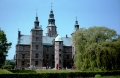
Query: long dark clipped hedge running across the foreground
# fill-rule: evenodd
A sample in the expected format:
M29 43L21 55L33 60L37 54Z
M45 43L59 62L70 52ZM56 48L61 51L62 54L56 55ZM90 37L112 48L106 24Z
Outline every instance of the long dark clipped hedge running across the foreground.
M14 70L12 70L14 71ZM29 70L30 71L30 70ZM22 72L22 70L21 70ZM108 72L66 72L66 73L14 73L14 74L0 74L0 78L93 78L96 74L101 76L120 75L120 71Z

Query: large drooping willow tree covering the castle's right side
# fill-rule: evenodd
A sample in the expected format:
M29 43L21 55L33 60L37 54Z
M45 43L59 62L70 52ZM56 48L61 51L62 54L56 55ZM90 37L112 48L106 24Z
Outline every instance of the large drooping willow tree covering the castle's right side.
M80 28L73 34L75 65L82 70L120 69L120 36L107 27Z

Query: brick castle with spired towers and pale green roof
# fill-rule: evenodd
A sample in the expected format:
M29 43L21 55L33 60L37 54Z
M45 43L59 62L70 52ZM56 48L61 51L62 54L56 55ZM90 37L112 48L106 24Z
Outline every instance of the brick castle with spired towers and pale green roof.
M75 31L79 29L77 19L74 28ZM15 59L17 69L29 68L31 65L38 69L42 67L72 68L75 54L72 37L67 35L61 37L57 34L52 9L49 14L46 36L43 36L37 15L30 32L30 35L23 35L18 30Z

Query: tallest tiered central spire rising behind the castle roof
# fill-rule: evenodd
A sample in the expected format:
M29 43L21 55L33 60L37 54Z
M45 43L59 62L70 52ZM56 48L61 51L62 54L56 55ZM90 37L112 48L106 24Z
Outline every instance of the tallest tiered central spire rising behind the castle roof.
M49 19L48 19L48 26L47 28L47 32L46 32L46 36L50 36L50 37L56 37L57 36L57 27L55 25L55 19L54 19L54 14L53 14L53 10L51 8L50 14L49 14Z

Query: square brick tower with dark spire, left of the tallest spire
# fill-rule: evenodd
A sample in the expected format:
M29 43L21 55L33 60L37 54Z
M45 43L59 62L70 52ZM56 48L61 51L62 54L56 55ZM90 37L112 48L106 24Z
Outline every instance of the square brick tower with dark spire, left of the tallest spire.
M42 46L43 30L39 26L38 16L34 21L34 27L31 29L31 50L30 50L30 66L42 67L43 46Z

